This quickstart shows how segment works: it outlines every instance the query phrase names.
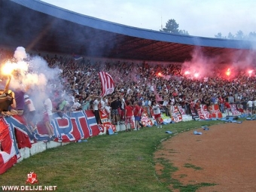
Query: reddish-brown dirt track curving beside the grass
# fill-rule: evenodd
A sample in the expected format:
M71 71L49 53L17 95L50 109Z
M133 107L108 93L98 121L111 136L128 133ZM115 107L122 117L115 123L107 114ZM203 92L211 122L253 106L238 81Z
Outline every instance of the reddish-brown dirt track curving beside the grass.
M168 159L178 167L172 178L182 184L217 184L201 187L197 190L201 192L256 191L256 121L223 123L197 132L203 134L194 135L194 130L179 133L155 153L156 158ZM186 163L201 169L186 168Z

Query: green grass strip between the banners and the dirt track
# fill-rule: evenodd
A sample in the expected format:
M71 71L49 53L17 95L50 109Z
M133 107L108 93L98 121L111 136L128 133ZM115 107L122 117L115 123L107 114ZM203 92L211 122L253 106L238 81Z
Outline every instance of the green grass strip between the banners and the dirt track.
M171 191L169 186L196 191L213 184L181 184L171 177L178 168L164 158L154 159L154 152L161 148L161 142L173 136L166 130L175 134L216 123L222 122L193 120L168 124L163 129L152 126L52 148L8 169L0 175L0 186L25 185L27 174L35 172L39 185L56 185L57 191ZM170 149L170 153L175 151ZM156 163L163 166L159 175Z

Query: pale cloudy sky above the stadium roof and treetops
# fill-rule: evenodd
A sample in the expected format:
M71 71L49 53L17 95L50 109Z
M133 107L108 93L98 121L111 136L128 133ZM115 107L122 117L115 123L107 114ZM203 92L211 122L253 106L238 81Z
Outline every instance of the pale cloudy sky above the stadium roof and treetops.
M159 31L174 19L189 35L215 38L256 32L255 0L43 0L51 5L126 26Z

